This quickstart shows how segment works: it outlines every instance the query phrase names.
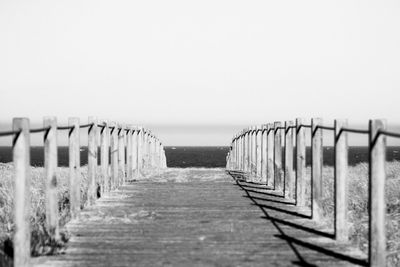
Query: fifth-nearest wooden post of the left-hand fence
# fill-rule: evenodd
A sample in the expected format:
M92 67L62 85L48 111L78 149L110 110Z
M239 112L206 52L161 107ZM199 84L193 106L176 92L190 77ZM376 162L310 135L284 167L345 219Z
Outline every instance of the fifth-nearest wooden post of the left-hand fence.
M109 128L107 121L103 122L100 132L100 156L101 156L101 193L109 191Z

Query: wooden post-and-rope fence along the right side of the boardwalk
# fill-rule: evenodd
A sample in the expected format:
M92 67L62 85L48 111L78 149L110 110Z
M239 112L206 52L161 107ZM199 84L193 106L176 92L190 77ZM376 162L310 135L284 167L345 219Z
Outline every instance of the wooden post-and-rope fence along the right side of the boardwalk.
M400 138L399 133L386 130L385 120L370 120L369 129L348 128L347 120L335 120L334 126L324 126L314 118L305 124L302 118L244 129L232 139L227 155L227 169L241 171L248 177L261 178L261 183L305 206L306 129L311 133L311 216L321 218L323 130L334 133L334 201L335 238L348 241L348 133L369 138L369 253L370 266L386 266L385 231L385 161L386 137ZM283 143L283 145L282 145ZM295 164L294 160L295 159Z

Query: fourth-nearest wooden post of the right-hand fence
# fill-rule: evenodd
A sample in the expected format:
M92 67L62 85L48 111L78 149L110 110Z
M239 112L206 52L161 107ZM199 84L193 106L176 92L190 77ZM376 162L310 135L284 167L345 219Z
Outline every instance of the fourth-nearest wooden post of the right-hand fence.
M306 205L306 134L303 118L296 119L296 205Z

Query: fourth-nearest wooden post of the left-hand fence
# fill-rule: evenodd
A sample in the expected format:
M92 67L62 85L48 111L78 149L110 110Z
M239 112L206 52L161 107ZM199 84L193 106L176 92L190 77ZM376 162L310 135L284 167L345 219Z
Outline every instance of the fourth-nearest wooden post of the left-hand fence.
M88 130L88 202L93 205L96 200L97 185L97 119L89 117L89 123L92 125Z

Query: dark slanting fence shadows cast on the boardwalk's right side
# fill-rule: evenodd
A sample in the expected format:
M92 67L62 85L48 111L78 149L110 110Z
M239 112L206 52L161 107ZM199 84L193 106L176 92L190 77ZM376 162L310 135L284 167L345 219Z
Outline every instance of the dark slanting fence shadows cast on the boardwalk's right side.
M317 229L313 229L311 227L307 227L298 223L295 223L292 221L292 219L287 219L287 218L277 218L274 216L271 216L268 210L280 212L283 214L288 214L294 217L298 217L301 219L311 219L310 215L305 215L293 210L290 210L291 208L293 209L293 204L292 203L286 203L285 201L282 200L276 200L276 199L271 199L270 197L277 197L277 195L269 193L269 192L258 192L253 190L252 186L248 186L246 183L243 183L244 179L243 176L240 173L231 173L228 172L228 174L234 179L235 185L239 186L239 188L244 191L245 195L243 197L248 198L252 201L252 205L256 205L260 208L260 210L263 212L264 216L262 218L269 220L272 222L272 224L275 226L275 228L278 230L279 234L276 235L276 237L281 238L287 242L289 247L292 249L292 251L295 253L299 261L293 262L295 265L300 265L300 266L315 266L309 262L306 261L306 259L302 256L301 252L296 248L296 246L300 246L303 248L307 248L310 250L317 251L319 253L323 253L325 255L331 256L333 258L336 258L338 260L343 260L347 261L351 264L356 264L360 266L368 266L368 261L363 258L359 257L354 257L350 255L346 255L343 253L339 253L337 251L334 251L332 249L326 248L322 245L318 245L315 243L310 243L304 240L301 240L295 236L291 236L290 234L287 234L284 229L280 225L286 225L289 227L292 227L294 229L302 230L309 232L311 234L314 234L316 236L320 237L326 237L326 238L331 238L332 239L332 244L334 244L334 238L335 234L325 232L325 231L320 231ZM262 188L261 185L258 188ZM267 189L266 186L264 186L264 189ZM254 196L253 194L256 193L257 196ZM263 203L259 203L258 201L263 201ZM266 202L266 203L265 203ZM268 202L271 202L271 204L268 204ZM280 207L275 207L273 206L273 203L279 203L282 206Z

